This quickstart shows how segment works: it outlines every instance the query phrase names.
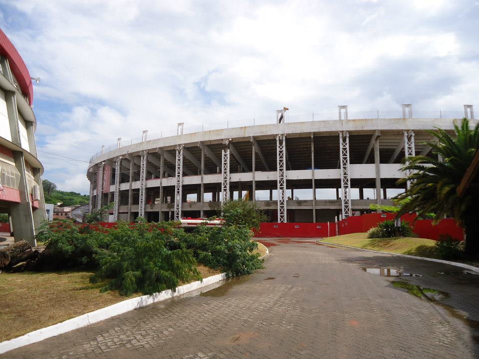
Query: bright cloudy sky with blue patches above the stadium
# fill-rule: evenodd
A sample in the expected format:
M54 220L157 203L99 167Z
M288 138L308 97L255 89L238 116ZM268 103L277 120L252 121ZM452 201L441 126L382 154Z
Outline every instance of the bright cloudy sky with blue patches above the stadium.
M177 122L479 106L478 19L474 0L0 0L41 77L43 178L81 193L101 145Z

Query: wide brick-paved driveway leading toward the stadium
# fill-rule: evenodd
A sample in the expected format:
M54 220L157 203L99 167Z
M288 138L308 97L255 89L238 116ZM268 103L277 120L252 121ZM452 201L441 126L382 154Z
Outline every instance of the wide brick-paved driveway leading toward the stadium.
M478 358L479 276L457 267L268 240L265 268L195 297L129 312L3 358ZM451 294L414 297L362 267ZM464 316L472 320L465 320ZM477 328L479 329L479 328Z

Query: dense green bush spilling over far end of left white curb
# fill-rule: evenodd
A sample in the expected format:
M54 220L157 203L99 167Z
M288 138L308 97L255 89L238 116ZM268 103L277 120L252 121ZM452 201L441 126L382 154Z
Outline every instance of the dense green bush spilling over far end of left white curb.
M201 225L191 233L177 229L175 235L186 248L193 250L198 262L221 269L228 277L251 274L262 268L259 254L251 254L258 244L251 240L251 231L246 226L212 228Z

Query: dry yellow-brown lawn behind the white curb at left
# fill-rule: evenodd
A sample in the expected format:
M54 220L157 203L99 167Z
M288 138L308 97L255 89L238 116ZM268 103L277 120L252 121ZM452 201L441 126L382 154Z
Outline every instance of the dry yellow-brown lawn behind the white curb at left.
M219 271L199 265L203 278ZM91 272L0 273L0 342L121 302L117 291L100 293Z

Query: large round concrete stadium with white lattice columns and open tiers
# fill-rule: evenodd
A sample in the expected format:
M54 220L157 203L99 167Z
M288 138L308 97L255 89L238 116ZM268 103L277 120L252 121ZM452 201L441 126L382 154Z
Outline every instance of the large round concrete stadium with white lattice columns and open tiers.
M396 184L405 176L404 157L431 151L428 131L452 132L463 117L474 119L472 105L464 105L464 116L418 113L406 104L402 111L348 116L339 106L318 121L316 114L295 118L283 109L270 124L253 120L186 134L179 123L176 135L153 140L144 131L138 143L118 139L92 157L90 210L113 202L110 221L204 217L248 193L273 222L325 222L372 203L392 204L388 190L404 190Z

